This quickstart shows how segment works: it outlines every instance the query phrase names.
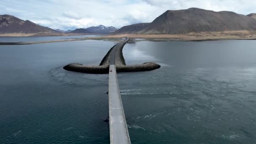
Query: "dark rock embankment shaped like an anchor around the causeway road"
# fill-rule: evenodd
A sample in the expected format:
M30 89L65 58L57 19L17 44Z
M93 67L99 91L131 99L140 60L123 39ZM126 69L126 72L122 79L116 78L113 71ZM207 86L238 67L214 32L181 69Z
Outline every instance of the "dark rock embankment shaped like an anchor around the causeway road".
M128 38L129 39L129 38ZM125 40L119 44L114 45L104 56L99 66L89 66L83 64L68 64L63 69L74 72L84 72L91 74L107 74L109 73L109 61L111 54L115 55L115 65L117 72L140 72L140 71L150 71L158 69L161 66L153 62L146 62L144 64L128 65L125 64L125 59L123 57L123 46L128 42ZM116 48L115 48L116 47ZM116 51L116 53L114 53Z

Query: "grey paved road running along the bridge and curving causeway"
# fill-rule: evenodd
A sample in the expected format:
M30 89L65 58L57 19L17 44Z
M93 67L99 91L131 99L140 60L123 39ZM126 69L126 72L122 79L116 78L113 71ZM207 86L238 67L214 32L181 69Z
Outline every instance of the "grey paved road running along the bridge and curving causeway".
M115 55L117 48L123 46L129 38L115 45L109 61L109 131L110 144L131 144L122 99L119 92L117 72L115 68ZM112 72L111 72L112 71Z

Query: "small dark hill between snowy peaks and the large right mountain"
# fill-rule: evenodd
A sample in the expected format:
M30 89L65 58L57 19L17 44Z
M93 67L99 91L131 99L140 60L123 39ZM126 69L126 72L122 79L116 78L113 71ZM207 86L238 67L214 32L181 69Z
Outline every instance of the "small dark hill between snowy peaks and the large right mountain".
M120 29L113 32L113 34L134 34L136 32L139 32L141 29L146 28L149 24L150 23L131 24L121 27Z

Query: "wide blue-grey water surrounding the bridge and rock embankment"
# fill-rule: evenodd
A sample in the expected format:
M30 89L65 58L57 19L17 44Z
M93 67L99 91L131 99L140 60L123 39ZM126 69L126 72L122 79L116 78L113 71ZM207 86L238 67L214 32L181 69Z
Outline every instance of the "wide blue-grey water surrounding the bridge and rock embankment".
M126 44L119 73L132 144L244 144L256 139L256 41ZM62 69L99 64L113 42L0 46L0 143L109 144L108 75Z

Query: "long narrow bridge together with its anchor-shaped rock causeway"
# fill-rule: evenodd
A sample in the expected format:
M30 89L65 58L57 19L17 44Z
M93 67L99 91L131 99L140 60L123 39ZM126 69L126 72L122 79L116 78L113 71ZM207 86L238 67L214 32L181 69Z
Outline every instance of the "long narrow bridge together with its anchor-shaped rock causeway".
M126 66L122 50L129 40L130 38L126 37L125 40L110 48L99 66L88 66L73 63L63 67L63 69L74 72L109 74L110 144L131 144L117 81L117 72L150 71L161 67L159 64L155 64L153 62Z

